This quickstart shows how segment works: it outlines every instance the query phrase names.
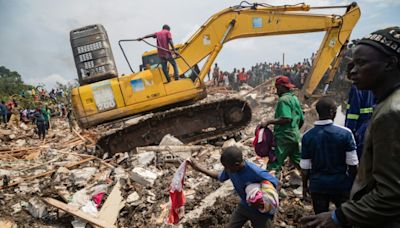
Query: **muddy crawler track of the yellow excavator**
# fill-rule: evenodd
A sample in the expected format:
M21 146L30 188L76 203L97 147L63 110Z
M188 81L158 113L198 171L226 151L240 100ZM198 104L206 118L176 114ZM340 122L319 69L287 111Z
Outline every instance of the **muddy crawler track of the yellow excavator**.
M135 151L136 147L158 145L166 134L183 143L198 143L237 134L251 121L249 104L239 98L222 97L199 101L165 112L130 119L119 129L105 133L97 141L99 156Z

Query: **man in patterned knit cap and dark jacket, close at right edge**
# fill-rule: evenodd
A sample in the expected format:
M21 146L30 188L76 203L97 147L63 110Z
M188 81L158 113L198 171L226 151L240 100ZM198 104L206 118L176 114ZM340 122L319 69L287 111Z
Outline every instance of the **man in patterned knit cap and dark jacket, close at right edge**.
M350 79L377 99L350 200L302 218L306 227L400 227L400 28L378 30L354 50Z

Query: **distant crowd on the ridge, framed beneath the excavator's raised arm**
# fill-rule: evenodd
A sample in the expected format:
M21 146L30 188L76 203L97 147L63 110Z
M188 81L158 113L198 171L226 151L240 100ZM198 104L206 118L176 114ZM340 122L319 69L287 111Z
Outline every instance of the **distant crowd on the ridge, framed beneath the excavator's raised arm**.
M313 58L314 54L311 57L311 61L305 58L302 62L292 65L283 65L280 62L261 62L248 70L244 67L241 69L234 68L232 72L221 70L218 63L215 63L212 69L212 79L208 74L208 80L211 81L212 86L230 86L234 90L239 90L243 83L256 87L272 77L284 75L289 77L297 88L302 88L310 73Z

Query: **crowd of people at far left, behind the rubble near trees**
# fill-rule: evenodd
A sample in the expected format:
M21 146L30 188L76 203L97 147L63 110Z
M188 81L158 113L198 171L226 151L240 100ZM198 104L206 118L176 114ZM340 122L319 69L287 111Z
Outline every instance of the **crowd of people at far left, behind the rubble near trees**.
M0 103L0 117L3 128L19 129L20 124L35 125L39 139L44 140L46 133L51 128L51 118L66 118L71 116L63 99L62 90L52 89L47 92L45 89L32 89L21 91L19 95L3 98ZM32 103L19 102L19 100L32 98Z

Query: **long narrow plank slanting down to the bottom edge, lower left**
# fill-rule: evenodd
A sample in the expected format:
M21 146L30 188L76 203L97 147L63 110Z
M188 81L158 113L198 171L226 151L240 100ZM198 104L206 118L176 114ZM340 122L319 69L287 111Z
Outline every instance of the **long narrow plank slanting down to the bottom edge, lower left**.
M86 222L89 222L90 224L96 225L98 227L104 227L104 228L109 228L109 227L116 227L113 224L110 224L104 220L101 220L99 218L96 218L92 215L89 215L79 209L76 209L68 204L65 204L61 201L55 200L53 198L42 198L44 202L47 204L50 204L51 206L54 206L60 210L63 210L71 215L74 215L76 217L79 217L80 219L85 220Z

